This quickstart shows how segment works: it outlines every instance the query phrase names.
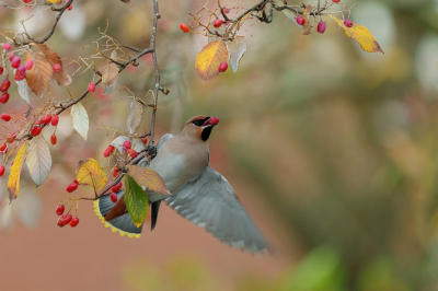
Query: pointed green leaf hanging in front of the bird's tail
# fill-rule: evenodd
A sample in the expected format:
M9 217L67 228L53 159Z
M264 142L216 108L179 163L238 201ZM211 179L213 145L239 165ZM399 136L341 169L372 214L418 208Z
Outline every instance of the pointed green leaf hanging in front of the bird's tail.
M140 228L149 209L148 196L127 174L125 174L125 203L134 224Z

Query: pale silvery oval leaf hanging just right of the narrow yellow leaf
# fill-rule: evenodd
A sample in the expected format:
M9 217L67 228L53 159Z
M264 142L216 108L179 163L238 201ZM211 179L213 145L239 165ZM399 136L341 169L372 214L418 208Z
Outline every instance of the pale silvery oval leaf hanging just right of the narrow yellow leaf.
M46 181L51 168L51 155L43 135L34 137L28 142L26 165L36 187Z

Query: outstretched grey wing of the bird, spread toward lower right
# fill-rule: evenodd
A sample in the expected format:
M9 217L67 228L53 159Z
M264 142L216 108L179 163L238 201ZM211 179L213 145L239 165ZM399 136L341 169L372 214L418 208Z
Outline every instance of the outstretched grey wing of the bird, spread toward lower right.
M196 225L206 226L223 244L249 253L268 247L231 185L209 166L165 201Z

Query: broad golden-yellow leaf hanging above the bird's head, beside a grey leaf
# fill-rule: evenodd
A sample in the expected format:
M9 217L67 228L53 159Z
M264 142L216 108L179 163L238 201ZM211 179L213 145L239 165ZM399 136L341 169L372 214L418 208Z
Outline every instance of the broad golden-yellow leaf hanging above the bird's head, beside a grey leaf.
M227 45L223 40L215 40L206 45L196 56L197 75L208 82L219 74L219 65L228 59Z

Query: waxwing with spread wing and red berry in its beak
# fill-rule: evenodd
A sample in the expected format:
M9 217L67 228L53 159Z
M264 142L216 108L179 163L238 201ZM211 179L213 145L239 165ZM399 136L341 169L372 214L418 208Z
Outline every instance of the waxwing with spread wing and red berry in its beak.
M151 205L151 229L157 224L161 200L178 214L198 226L205 226L216 238L233 248L245 252L267 249L267 243L239 201L228 181L209 166L208 138L218 125L216 116L199 115L187 120L177 135L168 133L158 143L157 156L149 164L163 178L172 194L159 195L147 191ZM139 237L142 225L137 228L123 198L113 203L110 195L94 202L95 212L114 232Z

